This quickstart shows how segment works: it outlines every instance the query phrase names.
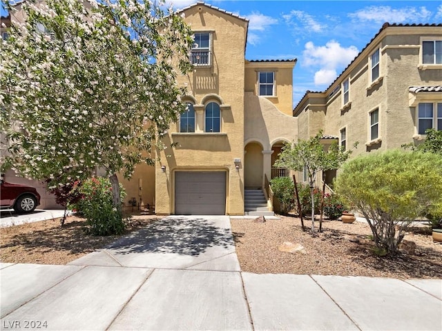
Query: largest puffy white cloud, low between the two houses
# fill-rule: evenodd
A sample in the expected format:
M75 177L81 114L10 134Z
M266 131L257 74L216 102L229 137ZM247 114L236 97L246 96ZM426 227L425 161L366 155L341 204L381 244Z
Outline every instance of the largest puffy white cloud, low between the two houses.
M315 46L312 41L305 44L302 66L314 67L315 85L327 85L336 79L336 71L353 61L359 51L355 46L344 48L337 41L328 41L325 46Z

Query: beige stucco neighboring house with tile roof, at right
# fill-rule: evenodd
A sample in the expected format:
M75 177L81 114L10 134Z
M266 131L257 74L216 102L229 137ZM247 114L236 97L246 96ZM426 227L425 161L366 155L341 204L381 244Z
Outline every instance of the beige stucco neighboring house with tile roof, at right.
M293 114L300 139L323 129L352 157L442 130L442 24L385 23L327 90L307 91Z

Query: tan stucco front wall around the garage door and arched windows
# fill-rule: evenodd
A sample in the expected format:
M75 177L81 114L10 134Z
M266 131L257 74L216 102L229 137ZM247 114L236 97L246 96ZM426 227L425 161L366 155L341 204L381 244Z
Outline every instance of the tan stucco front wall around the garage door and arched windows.
M237 172L233 159L244 163L244 46L246 21L207 6L184 10L185 21L194 31L211 32L213 64L195 68L180 84L186 84L195 100L196 116L204 119L204 106L209 101L221 105L221 132L178 133L171 126L164 139L166 146L176 148L159 152L155 176L157 214L174 212L174 172L177 170L227 171L227 214L244 214L244 169ZM161 167L166 167L163 172Z

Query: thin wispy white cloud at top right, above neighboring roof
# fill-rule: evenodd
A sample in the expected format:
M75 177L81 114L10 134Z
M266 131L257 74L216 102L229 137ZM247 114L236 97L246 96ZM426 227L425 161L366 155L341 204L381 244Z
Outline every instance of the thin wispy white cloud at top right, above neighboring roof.
M425 7L391 8L390 6L370 6L348 14L358 21L374 21L375 23L405 23L427 21L431 12Z

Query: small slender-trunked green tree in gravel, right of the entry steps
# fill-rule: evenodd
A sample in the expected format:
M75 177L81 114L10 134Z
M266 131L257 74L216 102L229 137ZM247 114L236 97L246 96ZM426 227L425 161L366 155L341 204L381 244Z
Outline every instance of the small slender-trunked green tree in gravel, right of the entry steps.
M286 144L282 148L276 166L289 168L290 170L305 170L309 178L310 196L311 196L311 234L315 235L315 205L314 189L316 174L321 171L338 169L345 162L351 151L344 150L333 141L329 148L325 149L320 142L323 132L319 131L315 137L309 140L298 140L291 144Z

